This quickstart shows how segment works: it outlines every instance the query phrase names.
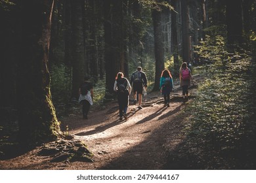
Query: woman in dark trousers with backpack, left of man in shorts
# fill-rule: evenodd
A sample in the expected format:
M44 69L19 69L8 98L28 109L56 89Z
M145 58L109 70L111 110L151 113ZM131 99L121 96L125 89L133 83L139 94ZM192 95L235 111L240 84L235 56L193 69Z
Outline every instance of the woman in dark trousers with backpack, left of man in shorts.
M129 105L129 95L131 93L131 84L123 76L123 73L119 72L116 75L114 83L114 91L117 92L117 101L119 105L119 120L127 120L127 108Z

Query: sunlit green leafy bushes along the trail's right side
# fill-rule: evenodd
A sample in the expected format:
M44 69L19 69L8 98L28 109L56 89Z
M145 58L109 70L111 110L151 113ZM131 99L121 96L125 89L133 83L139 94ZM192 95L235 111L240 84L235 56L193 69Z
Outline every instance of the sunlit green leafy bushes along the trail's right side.
M228 161L225 162L228 169L244 167L248 162L244 162L243 156L253 156L244 148L255 148L251 145L255 144L252 139L256 135L253 89L256 67L248 56L236 61L228 59L224 64L218 55L215 60L219 61L209 70L211 76L200 86L196 100L187 108L186 112L192 114L188 138L205 151L205 156L215 159L215 162L207 162L207 168L212 165L220 168L224 161ZM238 152L240 160L233 161Z

